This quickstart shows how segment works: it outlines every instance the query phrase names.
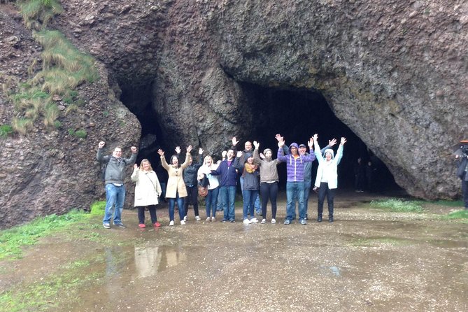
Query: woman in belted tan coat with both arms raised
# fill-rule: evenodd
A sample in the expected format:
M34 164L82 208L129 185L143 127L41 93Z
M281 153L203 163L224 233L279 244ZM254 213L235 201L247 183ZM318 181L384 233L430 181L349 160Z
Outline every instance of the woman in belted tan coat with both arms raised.
M171 226L174 225L174 205L176 201L179 208L180 224L185 225L185 221L183 220L185 216L183 197L187 197L187 188L183 182L183 169L187 168L189 164L191 150L192 146L188 146L185 162L183 162L183 164L179 164L177 155L172 155L170 164L167 164L166 157L164 157L164 150L157 150L157 153L161 156L161 164L169 174L169 178L167 179L166 199L169 200L169 225ZM176 152L177 151L180 153L180 147L176 147Z

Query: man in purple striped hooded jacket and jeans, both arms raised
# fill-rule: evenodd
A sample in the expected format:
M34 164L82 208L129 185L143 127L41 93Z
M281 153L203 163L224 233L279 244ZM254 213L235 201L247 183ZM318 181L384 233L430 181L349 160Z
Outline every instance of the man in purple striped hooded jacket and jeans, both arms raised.
M283 146L285 144L283 136L276 134L278 140L278 160L286 163L287 182L286 182L286 220L285 225L291 224L292 215L296 211L296 201L299 203L299 223L306 225L306 207L304 205L304 163L313 162L313 139L311 138L307 145L311 151L309 155L299 155L297 143L290 145L290 154L284 155Z

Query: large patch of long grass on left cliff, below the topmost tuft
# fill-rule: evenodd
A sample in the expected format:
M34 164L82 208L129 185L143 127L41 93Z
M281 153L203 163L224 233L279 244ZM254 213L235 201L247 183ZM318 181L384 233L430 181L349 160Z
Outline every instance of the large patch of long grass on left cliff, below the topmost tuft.
M45 127L54 128L60 115L52 101L54 95L62 97L65 104L78 107L75 104L78 92L74 89L99 78L94 59L78 51L59 31L38 31L34 38L44 48L43 69L28 83L18 85L19 91L10 95L15 111L22 113L12 121L13 129L20 134L27 134L39 117L43 118Z

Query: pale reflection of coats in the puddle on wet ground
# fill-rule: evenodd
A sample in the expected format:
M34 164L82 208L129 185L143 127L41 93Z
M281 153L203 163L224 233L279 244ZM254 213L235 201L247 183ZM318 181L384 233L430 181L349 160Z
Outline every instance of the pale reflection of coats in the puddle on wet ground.
M157 272L176 267L186 260L187 255L179 248L135 246L135 268L140 277L155 276Z

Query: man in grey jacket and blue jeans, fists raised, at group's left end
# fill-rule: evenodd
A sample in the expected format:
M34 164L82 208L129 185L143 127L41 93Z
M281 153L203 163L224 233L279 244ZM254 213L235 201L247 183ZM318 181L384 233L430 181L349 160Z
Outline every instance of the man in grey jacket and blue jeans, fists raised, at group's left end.
M125 202L125 166L135 163L136 147L132 146L132 156L130 158L122 157L122 148L114 148L112 155L104 156L102 148L106 143L99 142L97 146L96 159L100 164L106 164L104 180L106 181L106 209L102 225L106 229L111 228L111 218L114 215L114 225L125 228L122 223L122 211ZM113 211L114 210L114 211Z

